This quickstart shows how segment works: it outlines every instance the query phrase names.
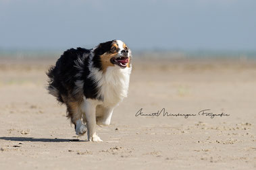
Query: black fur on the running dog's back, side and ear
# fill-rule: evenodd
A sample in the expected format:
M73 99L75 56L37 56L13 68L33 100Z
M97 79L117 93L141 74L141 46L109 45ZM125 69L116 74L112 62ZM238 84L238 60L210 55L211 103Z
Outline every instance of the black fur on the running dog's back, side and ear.
M108 52L111 48L111 44L114 40L99 44L97 48L71 48L66 50L61 57L57 60L56 65L51 67L47 72L49 77L49 91L57 89L57 101L65 103L65 99L73 99L74 101L80 101L79 97L84 95L88 99L103 100L102 97L97 98L99 89L97 88L97 82L88 78L90 71L88 69L89 58L93 55L93 67L102 70L102 64L100 55ZM82 63L80 62L82 60ZM80 68L77 67L80 65ZM80 70L82 69L82 70ZM77 76L78 73L80 76ZM78 80L84 81L83 94L73 95L75 90L75 82Z

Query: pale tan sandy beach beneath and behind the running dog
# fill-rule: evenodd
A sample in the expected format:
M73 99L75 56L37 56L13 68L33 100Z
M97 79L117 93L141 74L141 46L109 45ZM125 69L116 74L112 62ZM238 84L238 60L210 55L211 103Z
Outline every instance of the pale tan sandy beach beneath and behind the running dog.
M0 169L256 168L255 61L134 59L103 142L76 136L47 94L54 62L0 60Z

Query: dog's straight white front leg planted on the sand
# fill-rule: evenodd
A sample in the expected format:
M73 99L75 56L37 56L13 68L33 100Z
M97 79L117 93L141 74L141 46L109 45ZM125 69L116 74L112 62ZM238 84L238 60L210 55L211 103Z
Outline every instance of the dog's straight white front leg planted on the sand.
M84 111L87 121L88 140L93 142L101 142L101 138L96 134L96 104L91 100L84 102Z

